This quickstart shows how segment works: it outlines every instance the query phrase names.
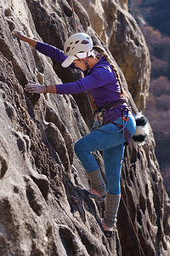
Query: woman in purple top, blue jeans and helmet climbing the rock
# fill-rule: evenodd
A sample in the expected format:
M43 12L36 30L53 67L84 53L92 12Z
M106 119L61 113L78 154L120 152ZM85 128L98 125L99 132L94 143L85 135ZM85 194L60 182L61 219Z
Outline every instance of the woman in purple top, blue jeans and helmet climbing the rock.
M105 199L105 214L101 224L105 236L111 237L116 230L121 199L120 175L124 145L129 143L136 130L136 122L127 106L116 67L104 49L93 46L92 39L86 33L77 33L68 38L65 51L27 38L17 30L13 34L42 54L59 61L62 67L78 68L84 73L84 78L77 82L54 85L31 82L26 84L25 90L30 93L49 92L61 95L88 90L95 102L95 116L99 119L94 122L92 132L75 143L75 153L90 180L90 189L85 189L86 194L101 201ZM98 163L91 154L96 150L103 150L107 187Z

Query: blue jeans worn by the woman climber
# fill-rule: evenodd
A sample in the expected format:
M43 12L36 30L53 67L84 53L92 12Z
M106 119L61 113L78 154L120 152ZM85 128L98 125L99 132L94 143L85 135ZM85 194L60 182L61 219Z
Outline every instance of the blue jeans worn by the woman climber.
M116 119L114 122L119 125L123 125L122 117ZM105 131L118 131L116 125L113 124L104 125L101 129ZM132 114L128 115L126 129L133 137L136 131L136 122ZM124 151L124 146L122 147L122 140L123 142L126 142L126 139L122 138L122 132L111 134L105 131L100 131L98 129L92 131L87 136L82 137L77 141L77 143L75 143L75 153L86 172L94 172L99 169L99 166L90 152L103 150L108 193L120 195L121 160Z

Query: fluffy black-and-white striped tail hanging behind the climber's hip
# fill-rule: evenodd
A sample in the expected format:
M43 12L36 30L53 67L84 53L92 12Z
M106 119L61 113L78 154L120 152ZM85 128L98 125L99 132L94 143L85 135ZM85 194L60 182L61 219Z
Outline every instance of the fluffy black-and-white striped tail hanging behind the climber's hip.
M141 112L133 116L136 121L136 132L133 135L133 141L142 145L146 137L150 135L148 120Z

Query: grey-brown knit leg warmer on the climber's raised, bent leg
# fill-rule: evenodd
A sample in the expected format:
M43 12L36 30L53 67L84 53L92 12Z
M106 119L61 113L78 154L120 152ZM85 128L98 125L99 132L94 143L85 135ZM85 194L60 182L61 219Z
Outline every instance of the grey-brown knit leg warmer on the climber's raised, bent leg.
M106 194L106 184L105 180L102 177L100 170L96 170L94 172L86 172L88 179L90 180L90 186L92 189L96 190L100 196ZM90 191L88 191L90 193ZM99 197L100 197L99 196Z

